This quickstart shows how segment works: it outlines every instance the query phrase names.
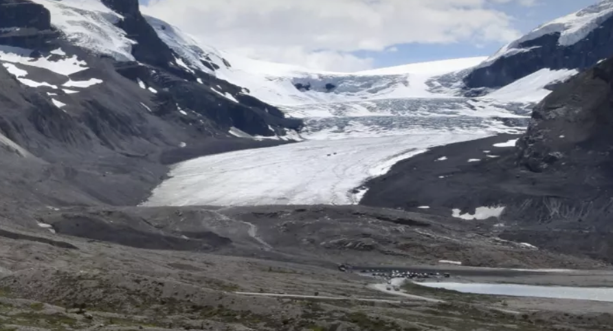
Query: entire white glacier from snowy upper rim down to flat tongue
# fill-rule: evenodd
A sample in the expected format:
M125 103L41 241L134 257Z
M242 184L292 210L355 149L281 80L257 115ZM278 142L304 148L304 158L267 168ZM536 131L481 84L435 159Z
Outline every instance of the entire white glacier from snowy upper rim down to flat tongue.
M577 73L544 69L466 98L458 78L487 57L356 73L314 71L227 54L150 20L168 45L190 52L184 58L190 69L201 67L199 60L216 61L211 74L302 119L300 139L306 141L179 163L146 206L359 203L365 181L427 148L522 133L531 107L549 93L546 86Z

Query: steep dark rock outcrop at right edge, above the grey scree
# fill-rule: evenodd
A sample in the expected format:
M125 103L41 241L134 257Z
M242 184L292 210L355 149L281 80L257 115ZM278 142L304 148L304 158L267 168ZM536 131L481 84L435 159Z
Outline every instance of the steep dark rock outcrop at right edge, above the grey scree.
M612 59L561 84L535 107L519 163L533 172L604 170L613 161L612 95Z

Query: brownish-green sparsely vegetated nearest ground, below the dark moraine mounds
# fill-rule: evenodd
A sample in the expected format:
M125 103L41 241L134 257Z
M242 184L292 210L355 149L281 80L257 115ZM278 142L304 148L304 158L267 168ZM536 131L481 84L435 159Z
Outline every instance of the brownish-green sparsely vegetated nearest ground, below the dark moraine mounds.
M610 330L612 323L613 306L605 302L470 295L411 284L399 295L377 290L379 279L309 263L39 236L72 248L0 237L1 330L588 331ZM520 277L531 284L544 277L430 269L448 271L454 281ZM555 279L612 282L608 271L556 273Z

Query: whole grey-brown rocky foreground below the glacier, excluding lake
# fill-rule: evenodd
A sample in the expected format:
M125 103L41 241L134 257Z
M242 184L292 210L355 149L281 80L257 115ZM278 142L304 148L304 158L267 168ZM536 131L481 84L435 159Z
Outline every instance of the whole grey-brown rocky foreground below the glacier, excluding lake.
M411 297L381 293L371 287L380 280L337 269L412 268L443 259L605 267L443 217L329 206L70 207L35 214L38 231L0 231L5 330L608 330L612 318L607 303L415 286L406 288ZM462 279L491 273L433 270ZM605 270L552 276L500 269L489 277L575 286L611 279Z

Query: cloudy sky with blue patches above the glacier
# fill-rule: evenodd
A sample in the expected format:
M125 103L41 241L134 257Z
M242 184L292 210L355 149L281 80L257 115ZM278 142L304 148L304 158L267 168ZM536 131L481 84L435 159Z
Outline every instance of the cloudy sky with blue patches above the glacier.
M226 52L329 71L489 56L597 0L140 0ZM613 0L610 0L613 1Z

